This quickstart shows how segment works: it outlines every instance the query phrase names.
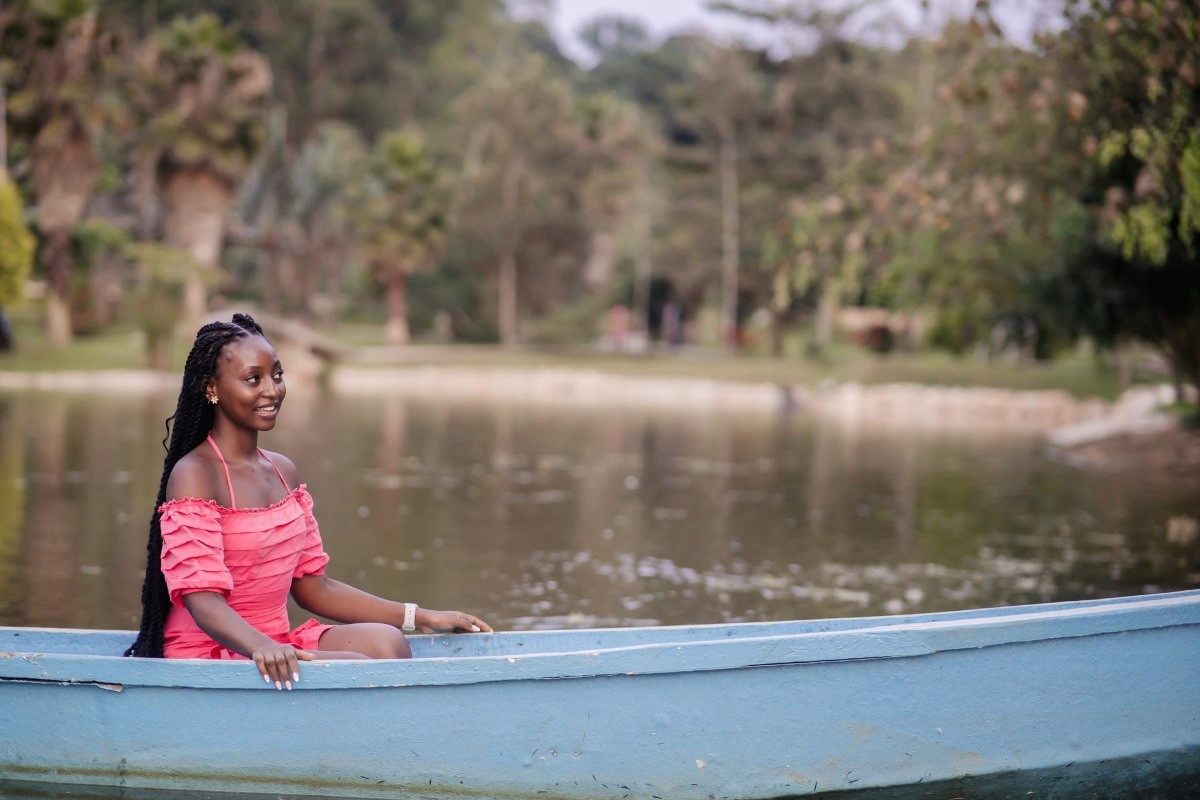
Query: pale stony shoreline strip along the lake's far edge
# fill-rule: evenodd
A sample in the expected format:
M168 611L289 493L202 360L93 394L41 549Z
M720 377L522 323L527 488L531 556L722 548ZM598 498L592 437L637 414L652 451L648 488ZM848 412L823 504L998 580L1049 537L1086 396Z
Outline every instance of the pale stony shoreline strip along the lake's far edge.
M533 403L588 409L662 408L696 411L814 414L857 423L920 427L986 427L1054 434L1052 444L1075 446L1120 435L1128 421L1145 420L1164 401L1166 387L1128 390L1118 401L1079 399L1063 390L1008 390L911 383L722 381L646 378L589 369L407 366L331 369L323 379L301 380L343 393L388 393L427 399ZM5 372L0 390L144 392L178 391L179 375L152 369ZM1157 417L1156 417L1157 419ZM1144 423L1144 422L1139 422ZM1159 425L1158 422L1154 423ZM1156 427L1154 429L1160 429ZM1082 433L1080 433L1082 432Z

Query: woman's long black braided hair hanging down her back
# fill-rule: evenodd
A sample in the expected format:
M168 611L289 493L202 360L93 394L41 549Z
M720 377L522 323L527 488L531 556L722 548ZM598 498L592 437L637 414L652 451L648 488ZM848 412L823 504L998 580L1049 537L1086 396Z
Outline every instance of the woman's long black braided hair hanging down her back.
M205 397L209 379L216 373L224 347L247 336L265 336L263 327L250 314L234 314L232 323L209 323L196 333L192 351L184 365L184 381L179 390L175 413L167 417L167 437L162 445L167 457L162 462L158 498L150 517L150 540L146 542L146 577L142 584L142 627L138 638L125 651L127 656L162 657L162 630L170 610L167 581L162 576L162 512L167 501L167 481L180 458L192 452L212 429L214 408ZM172 425L174 422L174 425ZM168 446L167 440L170 440Z

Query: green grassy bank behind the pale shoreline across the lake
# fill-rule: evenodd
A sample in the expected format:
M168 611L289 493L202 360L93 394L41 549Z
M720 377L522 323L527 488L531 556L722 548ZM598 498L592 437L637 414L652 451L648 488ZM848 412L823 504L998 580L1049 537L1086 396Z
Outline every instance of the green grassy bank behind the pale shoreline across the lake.
M140 333L113 327L77 337L68 348L52 348L35 320L14 319L17 348L0 355L4 371L140 369L146 366ZM503 349L490 345L415 344L389 349L378 327L344 325L329 333L347 347L348 360L385 368L392 366L455 365L480 369L551 367L590 369L630 375L686 377L709 380L779 383L817 386L826 381L863 384L916 383L935 386L988 386L1012 390L1060 389L1075 397L1114 398L1121 391L1116 371L1084 349L1051 362L1020 365L954 357L944 353L913 351L875 355L850 343L835 344L820 359L773 359L756 353L724 354L712 349L661 350L648 355L601 353L593 348ZM191 335L180 336L172 365L179 368ZM1160 377L1154 377L1160 380Z

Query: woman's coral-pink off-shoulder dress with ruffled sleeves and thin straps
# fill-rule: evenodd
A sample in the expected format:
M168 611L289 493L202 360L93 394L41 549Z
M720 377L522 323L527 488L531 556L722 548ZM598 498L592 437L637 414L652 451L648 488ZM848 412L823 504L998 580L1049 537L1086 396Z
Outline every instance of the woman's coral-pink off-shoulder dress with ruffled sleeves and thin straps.
M288 495L265 509L238 509L229 465L212 437L209 444L224 467L229 486L226 509L212 500L169 500L162 511L162 573L172 607L163 628L163 655L168 658L241 658L200 630L184 606L184 595L216 591L242 619L276 642L316 650L331 625L308 620L290 630L288 594L292 581L322 575L329 555L320 542L312 497L305 485L288 486ZM270 457L259 450L263 457Z

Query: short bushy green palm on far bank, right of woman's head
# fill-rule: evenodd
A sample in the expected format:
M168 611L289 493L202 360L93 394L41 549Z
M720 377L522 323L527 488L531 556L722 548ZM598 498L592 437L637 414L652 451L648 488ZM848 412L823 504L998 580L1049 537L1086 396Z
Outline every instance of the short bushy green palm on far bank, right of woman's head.
M448 198L428 148L412 131L379 139L354 203L358 251L383 285L389 344L408 344L408 278L442 257Z

